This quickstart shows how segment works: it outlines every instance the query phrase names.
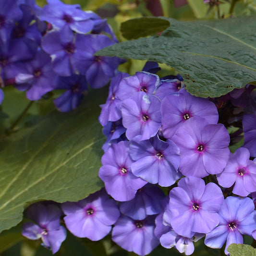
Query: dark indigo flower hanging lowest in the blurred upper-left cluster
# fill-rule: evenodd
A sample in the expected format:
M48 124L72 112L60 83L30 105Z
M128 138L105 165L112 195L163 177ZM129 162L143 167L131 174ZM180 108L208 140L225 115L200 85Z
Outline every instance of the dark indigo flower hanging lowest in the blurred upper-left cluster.
M61 112L76 109L81 104L87 90L85 76L76 74L69 77L60 76L56 84L55 89L66 89L66 91L53 100L55 107Z

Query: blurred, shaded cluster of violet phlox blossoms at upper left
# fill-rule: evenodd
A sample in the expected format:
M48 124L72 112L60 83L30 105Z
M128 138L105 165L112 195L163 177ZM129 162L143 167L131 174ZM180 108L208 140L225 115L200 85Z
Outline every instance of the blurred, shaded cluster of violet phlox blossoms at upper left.
M38 100L55 90L62 112L75 109L87 86L100 88L114 76L121 59L94 53L117 42L105 19L84 12L80 5L48 0L0 1L0 77ZM3 94L0 91L0 100Z

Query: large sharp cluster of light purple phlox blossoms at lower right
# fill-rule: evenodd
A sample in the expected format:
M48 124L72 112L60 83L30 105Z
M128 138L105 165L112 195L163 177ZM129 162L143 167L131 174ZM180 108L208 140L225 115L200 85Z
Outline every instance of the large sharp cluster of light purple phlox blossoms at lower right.
M111 80L99 116L107 137L99 170L105 189L61 204L64 223L93 241L112 230L116 244L138 255L159 244L191 255L202 238L211 248L226 243L228 254L230 244L243 244L243 235L256 239L255 86L197 98L180 76L159 78L156 71L156 63L147 63L142 72ZM229 135L222 119L226 126L237 124L236 132ZM243 132L243 147L231 153ZM161 187L171 187L170 194ZM28 215L35 211L32 206ZM33 220L37 224L24 224L23 234L32 239L36 233L56 252L63 227L52 229L50 217ZM62 240L50 241L53 231L62 232Z

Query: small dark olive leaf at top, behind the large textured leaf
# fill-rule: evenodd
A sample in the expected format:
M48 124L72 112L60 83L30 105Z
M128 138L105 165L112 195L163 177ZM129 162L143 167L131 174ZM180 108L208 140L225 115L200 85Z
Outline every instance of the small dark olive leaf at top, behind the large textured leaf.
M156 34L169 26L170 22L167 19L143 17L123 22L121 31L126 39L136 39Z

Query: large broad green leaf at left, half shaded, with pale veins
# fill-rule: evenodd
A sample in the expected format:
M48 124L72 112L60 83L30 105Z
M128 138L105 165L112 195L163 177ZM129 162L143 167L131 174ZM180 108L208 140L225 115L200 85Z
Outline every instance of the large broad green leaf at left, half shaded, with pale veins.
M76 111L54 111L0 142L0 232L38 200L77 201L99 190L105 138L98 122L107 88L90 92Z

